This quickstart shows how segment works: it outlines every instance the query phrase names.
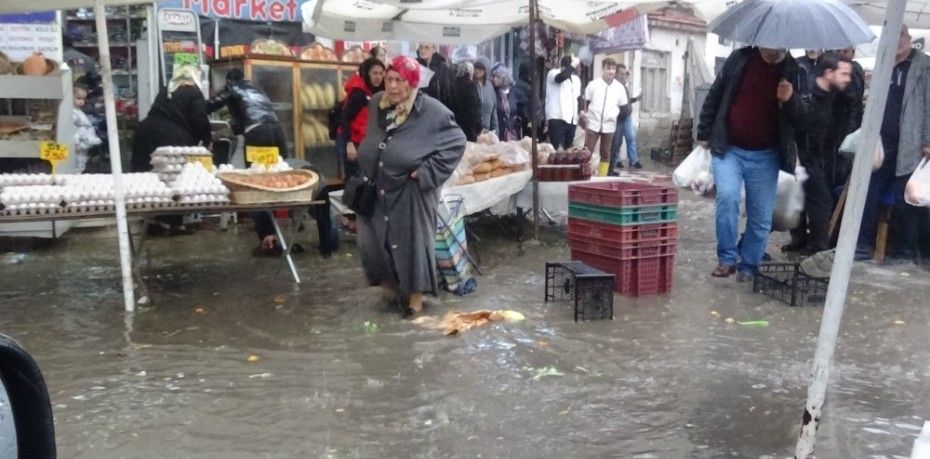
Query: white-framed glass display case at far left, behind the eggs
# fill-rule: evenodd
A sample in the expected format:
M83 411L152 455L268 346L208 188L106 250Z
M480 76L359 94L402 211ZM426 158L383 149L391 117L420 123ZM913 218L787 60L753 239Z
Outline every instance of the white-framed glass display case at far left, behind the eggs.
M71 70L58 69L45 76L0 75L0 172L49 172L39 158L42 142L68 146L68 159L56 172L74 171L74 100ZM14 126L19 123L19 126ZM14 126L9 128L10 126ZM52 238L64 234L69 222L6 223L0 236Z

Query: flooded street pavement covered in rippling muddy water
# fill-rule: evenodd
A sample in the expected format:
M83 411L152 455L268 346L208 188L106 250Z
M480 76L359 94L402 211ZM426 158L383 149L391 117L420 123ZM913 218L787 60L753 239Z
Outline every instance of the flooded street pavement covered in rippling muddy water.
M149 240L153 303L130 316L108 232L5 258L0 331L42 367L61 457L790 456L821 309L712 279L712 204L682 199L672 293L618 296L613 321L542 302L544 262L568 258L557 230L522 250L487 231L478 293L427 313L527 320L445 337L379 304L351 244L297 257L297 287L240 225ZM819 457L910 454L930 419L928 280L857 265Z

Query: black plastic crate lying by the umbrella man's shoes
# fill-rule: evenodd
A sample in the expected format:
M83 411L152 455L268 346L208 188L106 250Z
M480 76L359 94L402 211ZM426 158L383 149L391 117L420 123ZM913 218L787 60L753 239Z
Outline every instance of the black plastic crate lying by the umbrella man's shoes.
M766 263L752 282L752 291L791 306L822 306L830 278L801 272L797 263Z

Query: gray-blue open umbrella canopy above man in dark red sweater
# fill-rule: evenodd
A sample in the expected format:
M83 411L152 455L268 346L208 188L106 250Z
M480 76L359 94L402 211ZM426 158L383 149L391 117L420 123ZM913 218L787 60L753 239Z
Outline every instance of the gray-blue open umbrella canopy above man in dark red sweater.
M710 29L762 48L840 49L875 39L865 21L839 0L746 0Z

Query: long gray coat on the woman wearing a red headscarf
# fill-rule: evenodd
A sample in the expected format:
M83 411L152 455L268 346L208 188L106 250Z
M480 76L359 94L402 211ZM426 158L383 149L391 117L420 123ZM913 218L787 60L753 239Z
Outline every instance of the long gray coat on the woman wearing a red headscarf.
M378 122L382 96L371 99L365 139L358 147L361 173L374 177L379 195L371 217L358 217L362 268L371 285L388 282L404 295L435 295L439 192L462 159L465 134L452 112L420 93L407 121L388 136ZM413 171L416 179L410 177Z

